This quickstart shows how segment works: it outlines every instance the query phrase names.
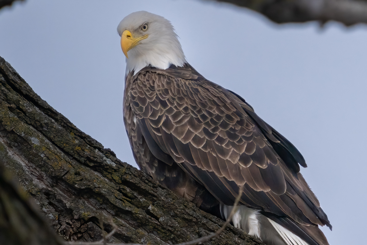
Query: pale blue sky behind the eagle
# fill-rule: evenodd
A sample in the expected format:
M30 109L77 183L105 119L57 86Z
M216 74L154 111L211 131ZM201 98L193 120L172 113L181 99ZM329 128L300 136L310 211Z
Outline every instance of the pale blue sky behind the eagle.
M33 90L122 161L137 166L122 120L125 57L116 27L131 12L175 26L189 63L244 97L304 155L331 245L364 244L367 28L272 24L194 0L27 0L0 11L0 56Z

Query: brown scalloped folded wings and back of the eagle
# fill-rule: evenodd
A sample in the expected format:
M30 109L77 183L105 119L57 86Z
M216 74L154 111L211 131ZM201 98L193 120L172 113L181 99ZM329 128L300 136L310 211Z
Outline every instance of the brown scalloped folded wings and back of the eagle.
M243 98L189 66L145 68L130 80L125 100L149 148L160 148L219 201L231 205L244 184L244 205L330 225L299 173L302 155ZM152 150L172 164L161 152Z

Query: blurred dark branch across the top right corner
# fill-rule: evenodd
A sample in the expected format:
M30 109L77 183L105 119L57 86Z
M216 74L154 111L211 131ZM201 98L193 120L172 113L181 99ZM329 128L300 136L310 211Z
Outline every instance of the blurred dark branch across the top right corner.
M367 23L367 0L212 0L257 11L276 23L338 21Z

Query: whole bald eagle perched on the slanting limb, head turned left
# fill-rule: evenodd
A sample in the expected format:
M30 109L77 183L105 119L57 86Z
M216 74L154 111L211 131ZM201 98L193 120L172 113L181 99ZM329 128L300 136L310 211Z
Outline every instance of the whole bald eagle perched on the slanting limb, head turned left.
M299 173L301 153L238 94L198 73L171 22L146 11L117 27L124 124L141 170L269 245L328 245L330 222Z

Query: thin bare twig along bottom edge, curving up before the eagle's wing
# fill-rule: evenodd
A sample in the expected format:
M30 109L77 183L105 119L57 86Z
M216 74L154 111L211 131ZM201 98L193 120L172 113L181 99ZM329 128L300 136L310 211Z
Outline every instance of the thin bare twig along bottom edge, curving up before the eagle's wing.
M239 193L236 197L235 203L233 204L233 209L230 212L230 215L229 215L228 219L224 222L222 227L219 228L219 230L217 230L215 233L212 233L210 235L200 237L200 238L197 238L197 239L192 240L192 241L182 242L182 243L174 244L174 245L196 245L196 244L199 244L201 242L206 242L206 241L210 240L211 238L216 237L217 235L221 234L224 231L224 229L226 228L226 226L230 223L230 221L232 221L232 217L235 214L235 212L237 211L238 203L241 199L242 192L243 192L243 187L244 187L244 185L241 185L241 187L239 189ZM138 243L107 243L107 239L110 238L118 229L117 225L113 222L112 217L109 217L109 221L111 222L111 224L113 226L113 230L109 234L107 234L106 236L103 235L103 238L101 240L95 241L95 242L68 241L68 242L65 242L64 244L65 245L147 245L147 244L138 244ZM102 230L103 230L103 228L102 228Z

